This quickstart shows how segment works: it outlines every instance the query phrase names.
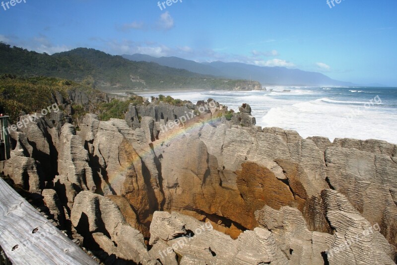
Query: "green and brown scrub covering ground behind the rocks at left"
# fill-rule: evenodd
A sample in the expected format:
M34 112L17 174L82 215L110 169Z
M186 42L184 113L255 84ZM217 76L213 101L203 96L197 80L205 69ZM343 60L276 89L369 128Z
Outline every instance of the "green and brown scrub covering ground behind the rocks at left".
M80 105L69 100L69 93L78 91L89 97L88 104ZM21 112L32 114L54 104L58 93L64 97L66 104L70 104L71 118L76 126L77 120L86 113L96 113L103 121L110 120L110 118L124 119L130 104L134 106L145 104L143 97L137 95L126 100L114 98L110 102L106 102L103 92L70 80L48 77L22 79L7 74L0 76L0 113L9 115L9 122L15 124ZM190 102L164 95L159 95L158 99L154 97L152 99L154 102L164 101L174 106L183 106ZM59 104L61 110L63 107Z

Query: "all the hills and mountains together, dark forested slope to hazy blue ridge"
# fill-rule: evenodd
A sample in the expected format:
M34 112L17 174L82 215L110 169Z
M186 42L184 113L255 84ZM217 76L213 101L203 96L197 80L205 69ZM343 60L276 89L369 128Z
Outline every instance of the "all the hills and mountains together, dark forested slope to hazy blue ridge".
M299 69L144 54L115 56L88 48L48 55L0 43L0 59L0 74L58 77L102 90L254 89L250 80L262 86L354 86Z

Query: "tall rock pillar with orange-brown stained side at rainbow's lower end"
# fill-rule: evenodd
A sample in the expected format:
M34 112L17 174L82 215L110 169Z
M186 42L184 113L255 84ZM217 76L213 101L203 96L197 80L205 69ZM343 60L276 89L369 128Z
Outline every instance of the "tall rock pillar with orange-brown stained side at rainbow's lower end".
M99 123L93 142L101 192L125 196L141 223L147 222L162 201L155 155L148 141L144 129L132 130L125 120L111 119Z

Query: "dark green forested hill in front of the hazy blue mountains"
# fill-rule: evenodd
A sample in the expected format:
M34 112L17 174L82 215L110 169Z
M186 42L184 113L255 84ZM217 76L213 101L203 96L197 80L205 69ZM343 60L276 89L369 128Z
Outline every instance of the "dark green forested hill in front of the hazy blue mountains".
M48 55L0 43L0 74L74 80L105 91L135 89L234 89L241 80L200 75L149 62L77 48Z

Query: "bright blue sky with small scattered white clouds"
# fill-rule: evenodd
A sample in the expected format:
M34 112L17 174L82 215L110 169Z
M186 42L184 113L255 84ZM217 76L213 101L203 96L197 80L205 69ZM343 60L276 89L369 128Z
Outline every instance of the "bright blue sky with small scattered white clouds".
M7 1L0 41L37 52L285 66L397 87L397 0L179 0L163 10L156 0Z

